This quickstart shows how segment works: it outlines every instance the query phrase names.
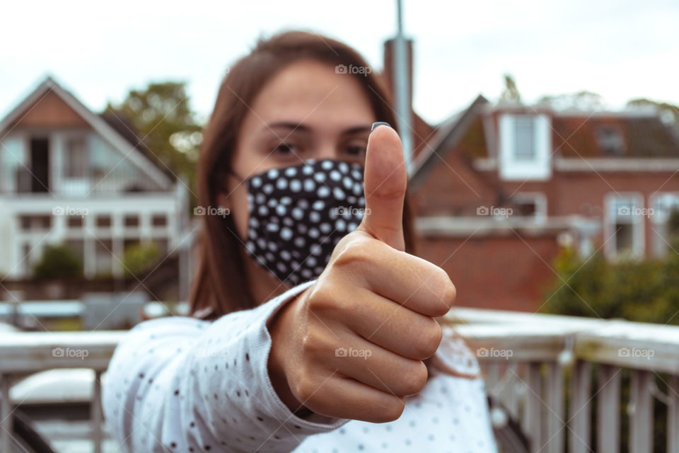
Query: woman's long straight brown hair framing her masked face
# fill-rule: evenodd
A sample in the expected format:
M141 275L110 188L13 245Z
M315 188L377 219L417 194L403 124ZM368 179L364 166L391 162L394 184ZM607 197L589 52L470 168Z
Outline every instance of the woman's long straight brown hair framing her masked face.
M278 71L300 59L314 59L336 66L369 67L358 52L331 38L305 31L286 31L260 38L249 55L229 69L219 88L214 110L203 131L197 168L198 204L216 206L223 187L221 176L231 169L238 132L250 103ZM395 127L391 96L381 76L371 71L352 74L361 84L378 121ZM216 319L257 305L245 275L243 244L231 216L202 217L199 265L190 294L191 316ZM405 250L414 253L408 203L403 215ZM207 314L199 315L197 312Z

